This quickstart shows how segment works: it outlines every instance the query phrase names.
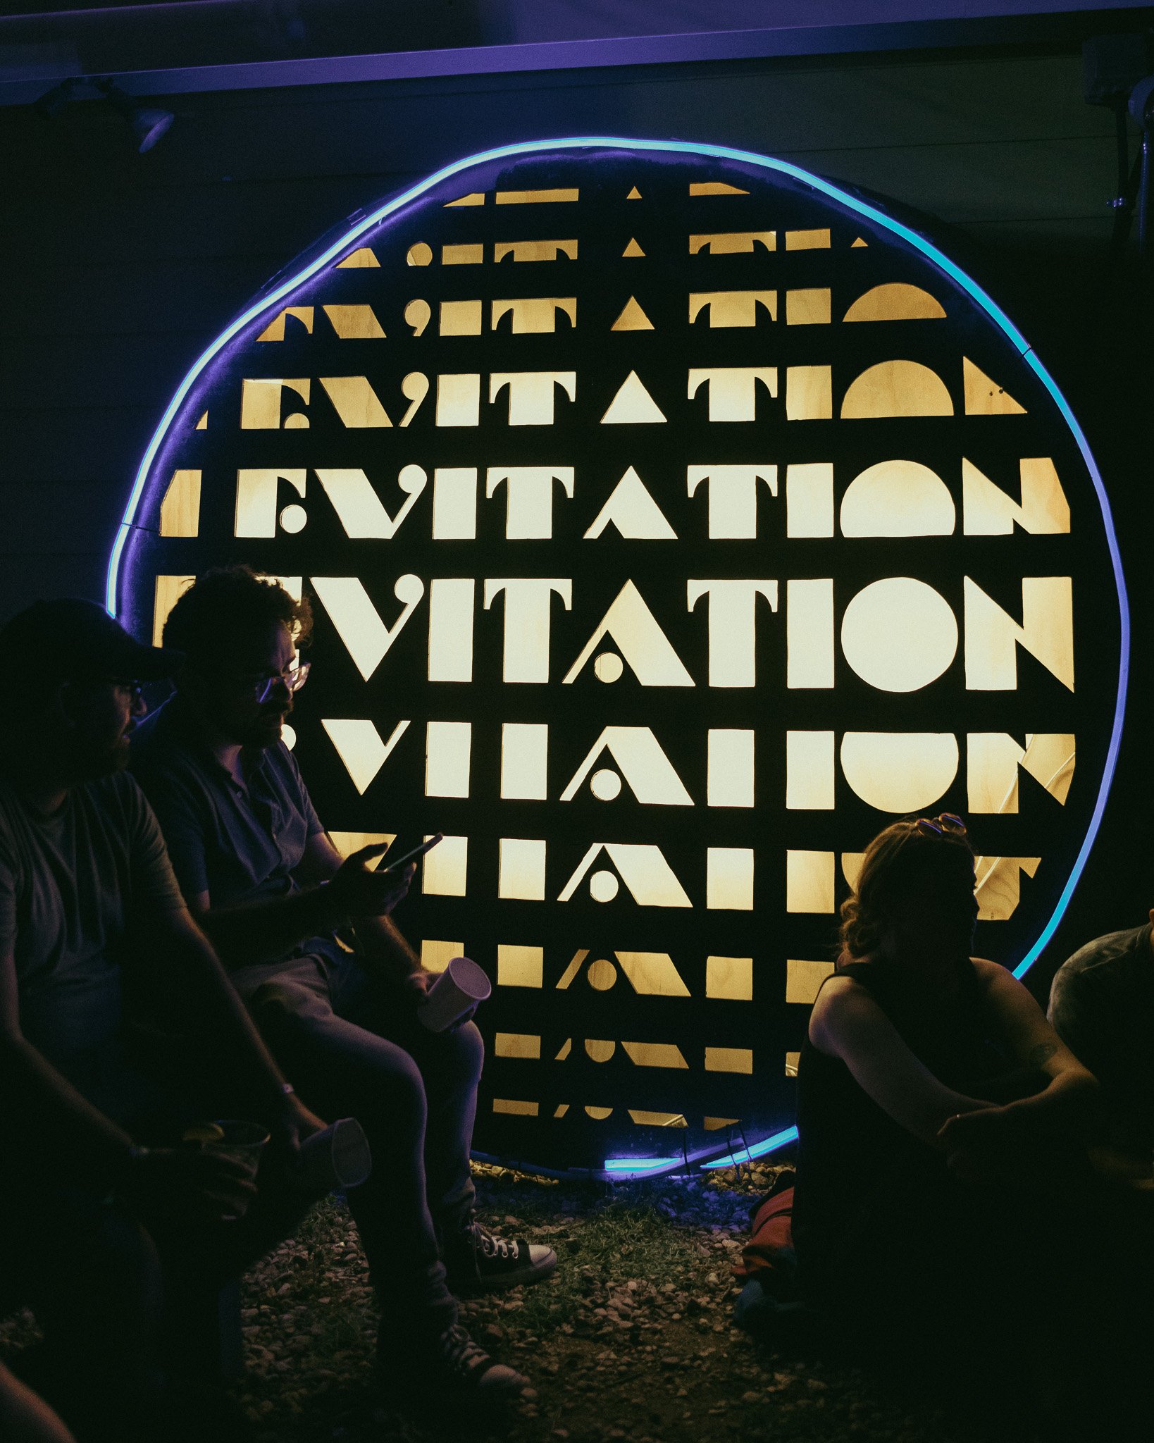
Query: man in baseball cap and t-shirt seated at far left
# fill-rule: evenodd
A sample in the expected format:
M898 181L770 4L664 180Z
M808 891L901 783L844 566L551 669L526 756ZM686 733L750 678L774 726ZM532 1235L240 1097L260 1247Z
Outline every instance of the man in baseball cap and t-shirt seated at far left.
M325 1124L248 1020L124 771L141 687L180 654L61 599L0 628L0 1274L45 1329L81 1439L183 1437L157 1416L162 1286L172 1302L224 1281L307 1203L265 1188L268 1167L258 1196L235 1162L177 1146L183 1126L258 1121L273 1165ZM131 1055L137 997L198 1058L179 1085Z

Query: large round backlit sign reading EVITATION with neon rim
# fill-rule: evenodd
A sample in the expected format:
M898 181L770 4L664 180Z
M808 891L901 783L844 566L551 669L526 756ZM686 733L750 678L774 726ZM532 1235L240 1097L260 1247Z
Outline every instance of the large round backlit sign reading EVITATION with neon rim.
M401 915L493 980L477 1146L643 1166L792 1123L837 906L958 811L979 949L1053 931L1127 620L1054 382L932 244L782 162L450 166L274 281L149 446L110 609L303 587L339 846L446 833Z

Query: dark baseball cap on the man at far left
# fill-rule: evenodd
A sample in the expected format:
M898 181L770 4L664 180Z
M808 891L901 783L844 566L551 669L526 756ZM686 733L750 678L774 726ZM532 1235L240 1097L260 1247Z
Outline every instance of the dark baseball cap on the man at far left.
M66 677L162 681L185 659L170 646L144 646L97 602L62 596L33 602L0 628L0 661Z

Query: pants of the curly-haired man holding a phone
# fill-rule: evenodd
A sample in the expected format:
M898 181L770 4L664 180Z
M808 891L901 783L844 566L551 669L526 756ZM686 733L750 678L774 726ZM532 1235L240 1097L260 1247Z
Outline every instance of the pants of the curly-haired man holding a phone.
M382 1342L404 1348L414 1332L441 1332L457 1304L439 1234L459 1228L473 1205L480 1033L473 1023L427 1032L352 958L241 968L232 983L309 1107L365 1128L372 1176L348 1196L381 1302Z

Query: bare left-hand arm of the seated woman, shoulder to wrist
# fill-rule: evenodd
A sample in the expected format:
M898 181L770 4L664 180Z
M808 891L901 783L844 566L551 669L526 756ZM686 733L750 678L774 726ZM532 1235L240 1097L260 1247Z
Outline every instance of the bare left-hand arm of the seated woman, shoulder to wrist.
M870 993L850 977L832 977L818 993L809 1040L819 1052L841 1058L858 1087L929 1147L942 1146L939 1133L949 1117L992 1107L939 1082Z

